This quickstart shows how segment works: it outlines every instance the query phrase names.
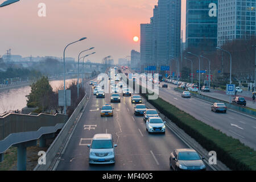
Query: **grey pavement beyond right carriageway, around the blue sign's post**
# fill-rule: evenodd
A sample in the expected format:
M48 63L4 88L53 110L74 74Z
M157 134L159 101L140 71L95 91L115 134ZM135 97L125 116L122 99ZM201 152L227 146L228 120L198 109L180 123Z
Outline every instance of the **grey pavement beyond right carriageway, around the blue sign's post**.
M210 89L210 92L201 92L201 94L229 102L229 96L226 95L226 92L222 90ZM231 97L233 99L236 96L233 95ZM237 93L237 97L244 97L246 100L246 106L256 109L256 103L253 102L253 98L251 98L253 97L253 94L250 91L243 91L242 93Z

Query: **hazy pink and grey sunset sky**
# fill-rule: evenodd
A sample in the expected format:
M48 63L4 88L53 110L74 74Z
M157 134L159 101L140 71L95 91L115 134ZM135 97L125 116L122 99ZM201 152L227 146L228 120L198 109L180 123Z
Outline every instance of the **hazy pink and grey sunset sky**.
M2 3L4 0L0 0ZM75 57L96 47L91 61L112 55L118 58L139 51L140 24L150 23L158 0L20 0L0 8L0 55L11 48L13 55ZM46 4L46 17L38 16L39 3ZM181 0L181 26L185 30L185 0ZM185 35L185 32L183 32ZM185 36L183 36L185 37ZM93 52L93 51L91 51ZM88 52L90 53L90 52ZM85 55L85 54L84 54Z

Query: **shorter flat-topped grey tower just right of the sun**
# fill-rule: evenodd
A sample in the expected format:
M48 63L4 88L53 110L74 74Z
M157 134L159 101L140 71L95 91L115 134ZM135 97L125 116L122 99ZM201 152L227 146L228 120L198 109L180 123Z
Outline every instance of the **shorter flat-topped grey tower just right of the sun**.
M152 24L141 24L141 72L152 64Z

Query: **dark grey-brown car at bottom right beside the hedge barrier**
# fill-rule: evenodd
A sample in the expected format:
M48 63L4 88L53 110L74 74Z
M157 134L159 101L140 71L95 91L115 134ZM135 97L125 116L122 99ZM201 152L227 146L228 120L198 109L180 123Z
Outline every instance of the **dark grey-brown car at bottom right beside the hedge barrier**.
M192 148L179 148L171 152L169 164L175 171L205 171L203 159Z

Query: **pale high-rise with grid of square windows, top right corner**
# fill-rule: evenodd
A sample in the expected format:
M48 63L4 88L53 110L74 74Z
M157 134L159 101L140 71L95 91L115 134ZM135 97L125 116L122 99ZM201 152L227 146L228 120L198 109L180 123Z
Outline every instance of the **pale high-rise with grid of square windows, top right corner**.
M255 0L218 1L218 46L255 35Z

